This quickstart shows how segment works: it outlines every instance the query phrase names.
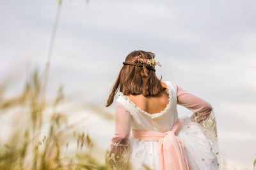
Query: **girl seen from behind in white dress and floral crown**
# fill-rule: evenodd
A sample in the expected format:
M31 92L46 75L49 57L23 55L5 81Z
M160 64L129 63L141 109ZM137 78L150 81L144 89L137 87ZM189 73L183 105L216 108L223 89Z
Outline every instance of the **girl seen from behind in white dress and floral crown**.
M218 169L218 138L211 104L156 76L154 53L134 51L109 95L115 101L115 136L106 152L111 169ZM193 112L178 117L177 104ZM132 130L132 134L130 132Z

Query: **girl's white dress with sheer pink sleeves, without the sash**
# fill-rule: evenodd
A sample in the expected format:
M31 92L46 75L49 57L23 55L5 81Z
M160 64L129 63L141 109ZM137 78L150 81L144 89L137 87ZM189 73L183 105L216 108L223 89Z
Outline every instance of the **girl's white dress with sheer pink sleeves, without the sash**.
M163 111L150 114L136 106L129 97L120 92L116 99L116 131L111 147L106 152L106 163L112 169L159 169L157 141L144 141L132 138L131 129L166 132L172 129L179 118L177 104L193 111L191 117L180 117L182 130L176 136L182 139L191 169L220 169L218 157L218 138L216 135L216 121L213 109L202 111L208 104L198 96L182 89L184 94L190 95L178 103L177 85L172 81L164 81L168 88L169 103ZM178 87L179 89L180 87ZM181 88L180 88L181 89ZM197 98L193 98L197 97ZM198 99L198 103L193 103ZM182 100L185 103L182 103ZM186 100L193 101L186 103ZM203 103L202 103L203 101ZM203 104L203 105L202 105ZM210 105L211 106L211 105ZM209 108L209 107L208 107ZM205 113L200 114L198 113ZM209 115L205 118L205 115ZM204 120L198 123L199 118Z

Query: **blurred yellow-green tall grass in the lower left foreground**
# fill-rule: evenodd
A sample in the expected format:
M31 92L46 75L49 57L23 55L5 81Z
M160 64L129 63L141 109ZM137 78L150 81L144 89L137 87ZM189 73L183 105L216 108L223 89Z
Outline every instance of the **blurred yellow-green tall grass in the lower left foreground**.
M38 71L33 71L23 92L12 99L4 99L8 84L0 85L1 115L10 114L13 108L22 112L22 116L14 117L19 123L9 131L8 141L0 143L0 169L109 169L93 157L95 146L90 136L74 131L76 124L68 125L67 117L58 111L64 99L63 88L46 107L42 84ZM46 124L49 130L42 132L46 110L51 110ZM70 141L76 143L75 151L68 150Z

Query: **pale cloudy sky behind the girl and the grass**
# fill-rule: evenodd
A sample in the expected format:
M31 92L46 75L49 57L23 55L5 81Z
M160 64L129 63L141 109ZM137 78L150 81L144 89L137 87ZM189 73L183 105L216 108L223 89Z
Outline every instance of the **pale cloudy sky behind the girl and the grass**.
M162 65L157 76L212 104L220 148L230 164L252 169L255 5L253 0L63 1L47 96L63 85L68 102L104 108L126 55L154 52ZM29 70L43 71L57 8L58 1L0 0L0 81L15 75L6 96L23 89ZM191 114L181 106L178 110L180 116ZM92 125L99 119L92 118ZM107 129L95 136L110 139L113 126Z

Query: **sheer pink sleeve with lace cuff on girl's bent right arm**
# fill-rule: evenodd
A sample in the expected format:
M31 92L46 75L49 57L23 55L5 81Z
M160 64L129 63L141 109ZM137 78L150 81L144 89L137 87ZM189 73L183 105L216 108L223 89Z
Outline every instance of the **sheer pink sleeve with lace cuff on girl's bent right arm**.
M213 151L218 156L218 165L220 167L220 153L218 146L218 135L216 126L216 117L211 104L204 99L182 89L177 85L177 103L193 111L191 120L197 122L213 146Z

